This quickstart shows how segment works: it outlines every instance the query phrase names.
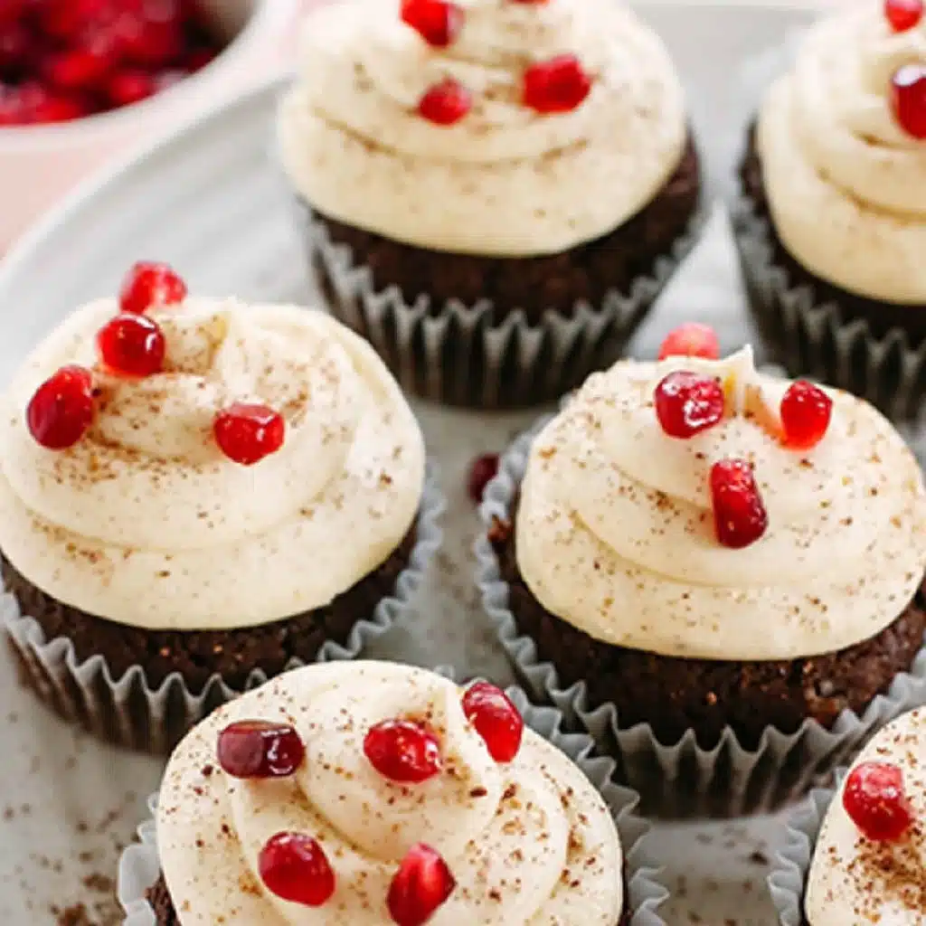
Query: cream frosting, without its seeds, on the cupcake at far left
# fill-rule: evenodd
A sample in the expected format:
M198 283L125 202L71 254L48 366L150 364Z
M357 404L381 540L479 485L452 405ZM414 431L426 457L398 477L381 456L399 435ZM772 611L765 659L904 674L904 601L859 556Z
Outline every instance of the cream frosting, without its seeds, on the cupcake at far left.
M3 398L0 548L47 594L144 628L251 626L329 603L389 556L415 518L421 433L369 345L320 312L188 298L148 314L163 373L94 370L94 426L62 452L24 409L69 363L94 367L113 300L81 308ZM286 419L254 467L224 457L217 411L257 401Z

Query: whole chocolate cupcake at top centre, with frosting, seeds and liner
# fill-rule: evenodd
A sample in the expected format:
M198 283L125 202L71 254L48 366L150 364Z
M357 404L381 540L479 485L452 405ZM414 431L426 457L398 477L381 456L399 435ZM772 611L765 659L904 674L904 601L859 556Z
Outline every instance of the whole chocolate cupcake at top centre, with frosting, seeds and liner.
M693 244L680 81L611 0L323 6L279 136L332 312L444 403L557 398Z

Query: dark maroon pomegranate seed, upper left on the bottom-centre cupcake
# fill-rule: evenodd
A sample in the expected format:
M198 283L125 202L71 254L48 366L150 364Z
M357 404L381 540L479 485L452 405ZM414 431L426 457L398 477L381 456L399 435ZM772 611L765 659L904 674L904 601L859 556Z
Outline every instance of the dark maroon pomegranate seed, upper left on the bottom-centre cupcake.
M239 720L219 733L219 765L233 778L285 778L305 757L299 734L285 723Z

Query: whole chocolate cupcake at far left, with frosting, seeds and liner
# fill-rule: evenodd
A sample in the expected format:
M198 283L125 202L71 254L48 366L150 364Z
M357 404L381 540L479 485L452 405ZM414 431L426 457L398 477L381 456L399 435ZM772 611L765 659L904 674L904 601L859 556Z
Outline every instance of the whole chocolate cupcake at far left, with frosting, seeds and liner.
M164 751L296 662L356 656L439 540L379 357L320 312L140 265L3 396L4 626L69 720Z

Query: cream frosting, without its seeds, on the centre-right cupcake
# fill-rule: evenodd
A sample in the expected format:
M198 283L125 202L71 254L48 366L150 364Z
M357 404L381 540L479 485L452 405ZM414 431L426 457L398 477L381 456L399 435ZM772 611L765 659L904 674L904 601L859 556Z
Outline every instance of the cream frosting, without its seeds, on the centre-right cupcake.
M714 376L728 414L690 440L653 406L673 369ZM832 392L812 451L776 436L788 382L745 349L721 361L622 361L594 374L532 445L516 524L518 564L544 607L609 644L663 656L779 659L856 644L896 619L926 568L926 494L888 421ZM754 465L769 527L718 543L711 466Z

